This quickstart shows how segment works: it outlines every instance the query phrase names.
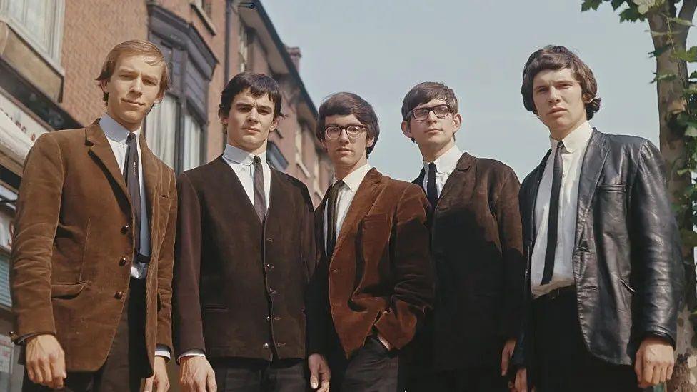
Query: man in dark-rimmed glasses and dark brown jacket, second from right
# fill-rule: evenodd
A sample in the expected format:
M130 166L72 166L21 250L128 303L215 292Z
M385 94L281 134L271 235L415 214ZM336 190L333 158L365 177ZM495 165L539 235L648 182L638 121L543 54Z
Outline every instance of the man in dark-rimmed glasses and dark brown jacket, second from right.
M521 328L520 183L513 169L462 153L455 93L417 84L404 97L402 130L423 156L414 181L433 207L436 305L413 346L408 390L506 392L503 375Z

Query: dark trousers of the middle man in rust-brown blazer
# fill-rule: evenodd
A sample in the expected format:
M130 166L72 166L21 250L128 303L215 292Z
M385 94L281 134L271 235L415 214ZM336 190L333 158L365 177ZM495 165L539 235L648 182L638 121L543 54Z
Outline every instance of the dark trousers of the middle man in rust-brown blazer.
M402 392L398 352L388 351L376 337L370 336L363 347L346 358L339 338L329 354L332 392Z

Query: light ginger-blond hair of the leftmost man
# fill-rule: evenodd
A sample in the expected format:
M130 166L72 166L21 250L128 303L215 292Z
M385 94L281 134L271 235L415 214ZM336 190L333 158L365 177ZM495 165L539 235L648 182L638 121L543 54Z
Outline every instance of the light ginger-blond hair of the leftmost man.
M131 41L124 41L121 44L114 46L114 49L109 51L104 59L104 65L101 66L101 71L99 76L97 76L96 81L101 83L102 81L109 81L111 75L114 74L114 69L116 69L116 63L119 62L121 56L149 56L154 57L152 61L148 61L148 64L155 66L162 64L162 75L160 76L160 91L159 94L164 94L167 89L169 89L169 67L167 66L167 61L165 61L164 56L160 49L155 46L150 41L143 41L141 39L132 39ZM109 100L109 94L104 93L102 96L104 103Z

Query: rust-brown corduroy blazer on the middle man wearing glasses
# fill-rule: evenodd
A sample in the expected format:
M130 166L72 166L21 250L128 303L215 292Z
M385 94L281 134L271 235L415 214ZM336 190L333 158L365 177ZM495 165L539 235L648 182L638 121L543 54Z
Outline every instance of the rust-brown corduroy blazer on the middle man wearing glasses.
M320 261L309 293L309 352L326 350L332 322L346 356L375 332L402 348L433 305L426 196L371 169L330 257L324 254L325 205L326 198L315 214Z

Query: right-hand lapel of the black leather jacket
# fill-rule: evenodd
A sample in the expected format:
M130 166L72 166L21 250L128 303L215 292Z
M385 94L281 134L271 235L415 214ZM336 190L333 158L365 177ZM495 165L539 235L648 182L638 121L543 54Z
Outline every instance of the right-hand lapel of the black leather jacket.
M586 224L588 217L588 208L591 206L593 194L596 192L598 179L600 179L605 160L608 158L608 138L602 132L598 132L593 128L591 140L588 141L586 148L586 156L583 156L583 165L581 165L581 176L578 182L578 206L576 213L576 244L581 240L581 232L583 225Z

